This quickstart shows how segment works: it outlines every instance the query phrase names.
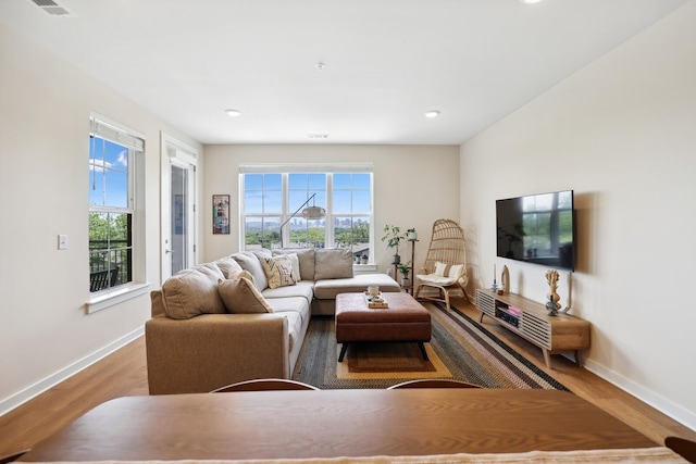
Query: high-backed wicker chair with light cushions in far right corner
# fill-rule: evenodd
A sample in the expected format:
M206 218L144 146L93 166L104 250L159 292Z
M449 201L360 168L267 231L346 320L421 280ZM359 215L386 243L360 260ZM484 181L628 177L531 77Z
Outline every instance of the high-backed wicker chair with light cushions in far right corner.
M456 290L469 300L464 287L467 276L467 242L464 230L451 220L437 220L433 224L433 238L423 264L423 274L415 277L419 286L414 298L444 302L449 310L449 292ZM437 290L437 296L421 296L423 287Z

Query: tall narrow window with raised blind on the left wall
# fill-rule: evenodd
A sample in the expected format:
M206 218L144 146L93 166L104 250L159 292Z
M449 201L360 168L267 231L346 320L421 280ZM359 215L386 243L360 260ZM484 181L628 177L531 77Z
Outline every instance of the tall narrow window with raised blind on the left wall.
M135 156L145 142L96 117L89 134L89 291L133 281Z

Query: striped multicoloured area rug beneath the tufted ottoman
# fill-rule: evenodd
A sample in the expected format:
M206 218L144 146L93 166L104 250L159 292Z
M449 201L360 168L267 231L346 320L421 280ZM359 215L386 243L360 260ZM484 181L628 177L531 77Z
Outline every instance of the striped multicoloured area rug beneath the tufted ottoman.
M417 343L349 346L338 363L333 317L312 317L293 378L321 389L386 388L415 378L455 378L485 388L568 390L456 308L423 303L433 336L424 362ZM352 360L352 361L351 361Z

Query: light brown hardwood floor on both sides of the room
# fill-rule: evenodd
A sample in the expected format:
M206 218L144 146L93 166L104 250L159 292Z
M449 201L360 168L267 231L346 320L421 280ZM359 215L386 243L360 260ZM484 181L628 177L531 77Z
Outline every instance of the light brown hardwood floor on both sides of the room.
M478 311L462 300L453 304L478 321ZM544 364L542 351L489 318L484 326L554 376L575 394L617 416L636 430L663 443L668 436L696 440L696 431L684 427L596 375L577 368L563 356L552 356L554 369ZM0 455L24 448L60 430L66 424L113 398L148 394L145 339L141 337L76 374L44 394L0 417Z

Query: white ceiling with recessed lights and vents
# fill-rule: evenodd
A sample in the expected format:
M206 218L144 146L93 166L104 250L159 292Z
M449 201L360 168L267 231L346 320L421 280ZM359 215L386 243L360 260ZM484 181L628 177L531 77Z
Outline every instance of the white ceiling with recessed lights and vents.
M686 0L55 2L0 22L201 143L458 145Z

